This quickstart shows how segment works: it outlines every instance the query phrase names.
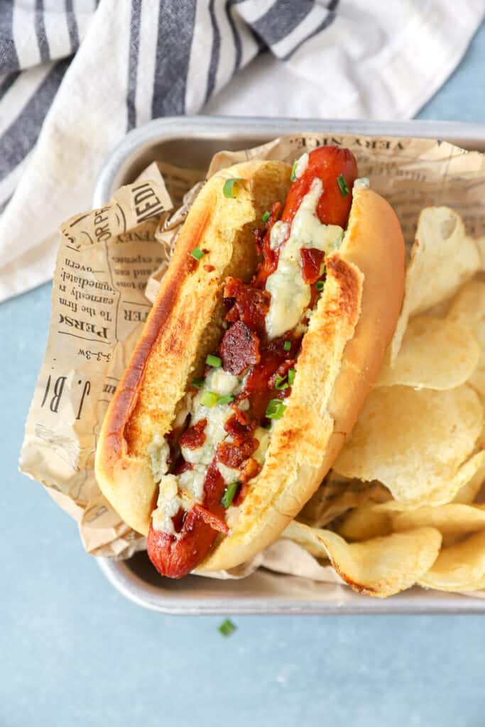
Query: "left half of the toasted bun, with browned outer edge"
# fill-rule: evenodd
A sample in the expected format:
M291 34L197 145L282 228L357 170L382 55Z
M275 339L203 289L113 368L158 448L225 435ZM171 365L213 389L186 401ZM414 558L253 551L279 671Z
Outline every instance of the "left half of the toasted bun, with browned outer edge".
M217 346L225 278L251 278L257 265L252 229L274 201L284 202L290 172L282 161L253 160L206 182L108 406L97 443L97 483L121 518L142 534L148 534L158 492L148 446L155 435L169 433L191 379ZM226 198L223 185L232 177L243 182L236 198ZM197 246L209 252L193 270L190 253Z

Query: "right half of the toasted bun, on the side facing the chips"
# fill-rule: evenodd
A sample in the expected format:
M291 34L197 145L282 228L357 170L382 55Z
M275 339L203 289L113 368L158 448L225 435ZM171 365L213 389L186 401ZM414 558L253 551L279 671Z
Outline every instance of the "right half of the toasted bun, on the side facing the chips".
M284 417L231 533L198 571L230 569L277 539L318 489L372 390L404 296L401 226L384 198L354 190L340 250L326 259L324 294L310 321Z

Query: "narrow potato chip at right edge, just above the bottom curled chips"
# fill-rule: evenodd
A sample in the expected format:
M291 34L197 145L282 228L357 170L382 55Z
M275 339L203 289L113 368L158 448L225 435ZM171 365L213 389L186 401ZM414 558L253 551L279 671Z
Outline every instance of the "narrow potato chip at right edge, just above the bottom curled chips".
M467 535L485 530L485 506L451 502L449 505L396 513L392 518L392 528L396 532L428 526L439 530L441 535Z

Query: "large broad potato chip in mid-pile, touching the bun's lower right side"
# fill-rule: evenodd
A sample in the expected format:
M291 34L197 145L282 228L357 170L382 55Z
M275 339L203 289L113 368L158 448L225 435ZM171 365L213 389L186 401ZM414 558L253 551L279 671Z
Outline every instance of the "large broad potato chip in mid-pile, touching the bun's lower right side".
M447 391L374 389L334 470L380 481L398 502L442 505L478 469L472 463L459 471L473 451L483 419L481 401L466 384Z

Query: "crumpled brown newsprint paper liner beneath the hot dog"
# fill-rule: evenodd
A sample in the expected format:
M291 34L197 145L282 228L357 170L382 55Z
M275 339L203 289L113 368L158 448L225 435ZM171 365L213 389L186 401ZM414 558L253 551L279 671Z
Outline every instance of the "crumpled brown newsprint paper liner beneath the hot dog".
M452 206L468 233L484 235L484 156L440 140L294 134L249 150L221 151L207 177L249 158L292 162L325 143L353 150L361 177L370 177L372 188L396 209L408 245L419 212L430 204ZM92 555L129 558L145 548L145 538L100 494L94 474L97 435L203 178L201 170L154 161L108 204L77 214L60 228L47 350L25 425L20 469L79 523ZM369 487L372 499L388 497L378 483L337 482L318 491L302 519L324 526L367 497ZM259 566L342 582L330 566L289 540L214 576L244 577Z

